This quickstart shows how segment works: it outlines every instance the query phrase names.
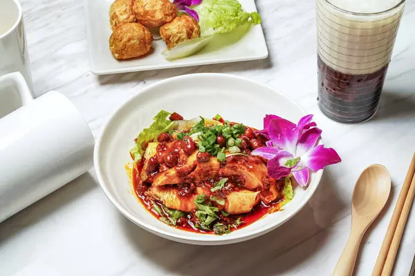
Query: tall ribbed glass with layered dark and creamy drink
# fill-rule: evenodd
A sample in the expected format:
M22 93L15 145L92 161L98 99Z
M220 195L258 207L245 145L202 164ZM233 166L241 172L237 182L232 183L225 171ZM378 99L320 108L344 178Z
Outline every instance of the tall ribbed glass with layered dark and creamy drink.
M405 0L317 0L320 110L359 123L378 107Z

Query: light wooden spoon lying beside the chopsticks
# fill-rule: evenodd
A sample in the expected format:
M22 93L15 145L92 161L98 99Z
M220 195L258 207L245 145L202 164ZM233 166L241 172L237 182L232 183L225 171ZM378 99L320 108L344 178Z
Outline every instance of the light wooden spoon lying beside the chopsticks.
M333 275L352 275L360 241L372 221L385 206L391 191L391 176L382 165L363 170L353 190L351 200L351 231Z

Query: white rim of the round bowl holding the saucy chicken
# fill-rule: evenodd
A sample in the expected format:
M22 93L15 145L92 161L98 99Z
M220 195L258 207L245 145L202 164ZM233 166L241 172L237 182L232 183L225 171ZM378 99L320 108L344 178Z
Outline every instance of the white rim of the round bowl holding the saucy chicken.
M318 173L316 173L316 175L315 175L316 176L315 181L316 181L317 184L315 184L315 186L312 186L312 187L308 186L307 189L309 189L309 196L304 197L304 199L302 199L302 201L299 201L299 203L297 204L298 207L291 210L291 212L289 212L284 217L284 219L282 219L281 221L275 221L274 223L267 224L266 226L263 226L263 227L258 228L256 230L253 230L250 233L243 233L243 234L240 234L240 235L235 233L234 235L214 236L214 237L217 237L217 239L206 239L205 237L206 237L207 234L201 234L200 237L186 237L185 235L171 233L167 230L160 229L156 226L152 226L152 225L148 224L146 221L143 221L142 219L138 219L137 217L135 217L131 213L129 213L129 211L125 210L125 208L123 208L120 204L118 204L118 201L113 197L113 195L111 195L111 193L109 192L109 190L107 188L107 184L105 183L104 179L102 178L102 172L101 172L101 168L100 168L101 142L102 142L102 139L104 139L104 136L107 134L107 128L111 125L114 117L116 117L118 112L120 112L125 106L127 106L127 104L129 102L133 101L137 97L140 97L140 95L147 92L148 90L152 90L153 88L156 88L157 86L160 86L160 85L163 85L163 84L169 83L169 82L174 82L174 81L183 81L183 79L199 79L199 78L205 78L205 77L233 79L234 81L245 81L246 83L251 83L252 85L260 86L261 88L264 88L264 89L267 89L267 90L272 90L273 92L277 93L279 96L284 97L285 99L287 99L288 101L293 103L295 106L297 106L297 108L299 108L299 110L301 110L304 113L304 115L307 114L306 110L304 110L304 108L299 106L298 103L296 103L293 99L291 99L291 97L288 97L288 95L284 94L283 92L275 90L274 88L272 88L270 86L266 86L263 83L253 81L252 79L246 79L244 77L239 77L239 76L236 76L236 75L230 75L230 74L224 74L224 73L196 73L196 74L180 75L180 76L176 76L176 77L163 79L161 81L156 81L155 83L152 83L151 85L146 86L145 88L142 88L136 95L133 95L132 97L130 97L129 99L124 101L124 103L122 103L122 105L120 107L118 107L109 116L109 119L107 119L107 121L103 124L103 126L101 128L101 131L100 131L100 134L98 135L98 138L95 141L95 148L94 148L94 152L93 152L93 163L94 163L94 167L95 167L95 174L97 175L98 183L100 184L100 187L102 188L102 191L107 196L109 201L111 201L111 203L114 206L116 206L118 211L120 213L122 213L122 215L124 215L124 217L127 217L127 219L132 221L134 224L137 224L141 228L144 228L145 230L149 231L150 233L154 233L154 234L160 235L162 237L168 237L169 239L172 239L174 241L204 242L206 244L212 244L212 245L217 244L218 242L219 243L220 242L232 243L232 242L239 242L239 241L242 241L242 240L252 239L254 237L258 237L259 235L261 235L261 233L268 233L270 230L274 230L278 226L281 226L286 221L288 221L289 219L294 217L300 210L302 210L302 208L304 208L304 206L306 206L306 204L311 199L311 197L313 197L313 195L315 193L315 190L317 190L317 187L320 185L324 169L318 171ZM220 83L220 82L218 82L218 83ZM321 143L321 141L320 141L320 143ZM253 224L255 224L255 222ZM183 233L185 234L185 233L187 233L187 231L183 230ZM208 236L211 237L212 235L208 235Z

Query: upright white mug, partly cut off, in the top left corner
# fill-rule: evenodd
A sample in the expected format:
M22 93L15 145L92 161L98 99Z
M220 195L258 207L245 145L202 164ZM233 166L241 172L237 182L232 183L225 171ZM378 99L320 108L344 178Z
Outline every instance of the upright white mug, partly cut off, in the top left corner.
M0 76L10 72L21 72L33 91L20 3L0 0Z

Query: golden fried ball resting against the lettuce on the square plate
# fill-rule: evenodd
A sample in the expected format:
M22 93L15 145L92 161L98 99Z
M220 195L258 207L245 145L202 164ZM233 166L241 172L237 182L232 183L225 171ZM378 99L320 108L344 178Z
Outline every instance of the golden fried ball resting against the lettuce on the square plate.
M176 17L172 22L160 27L160 37L170 50L176 44L201 36L201 28L193 17L186 14Z

